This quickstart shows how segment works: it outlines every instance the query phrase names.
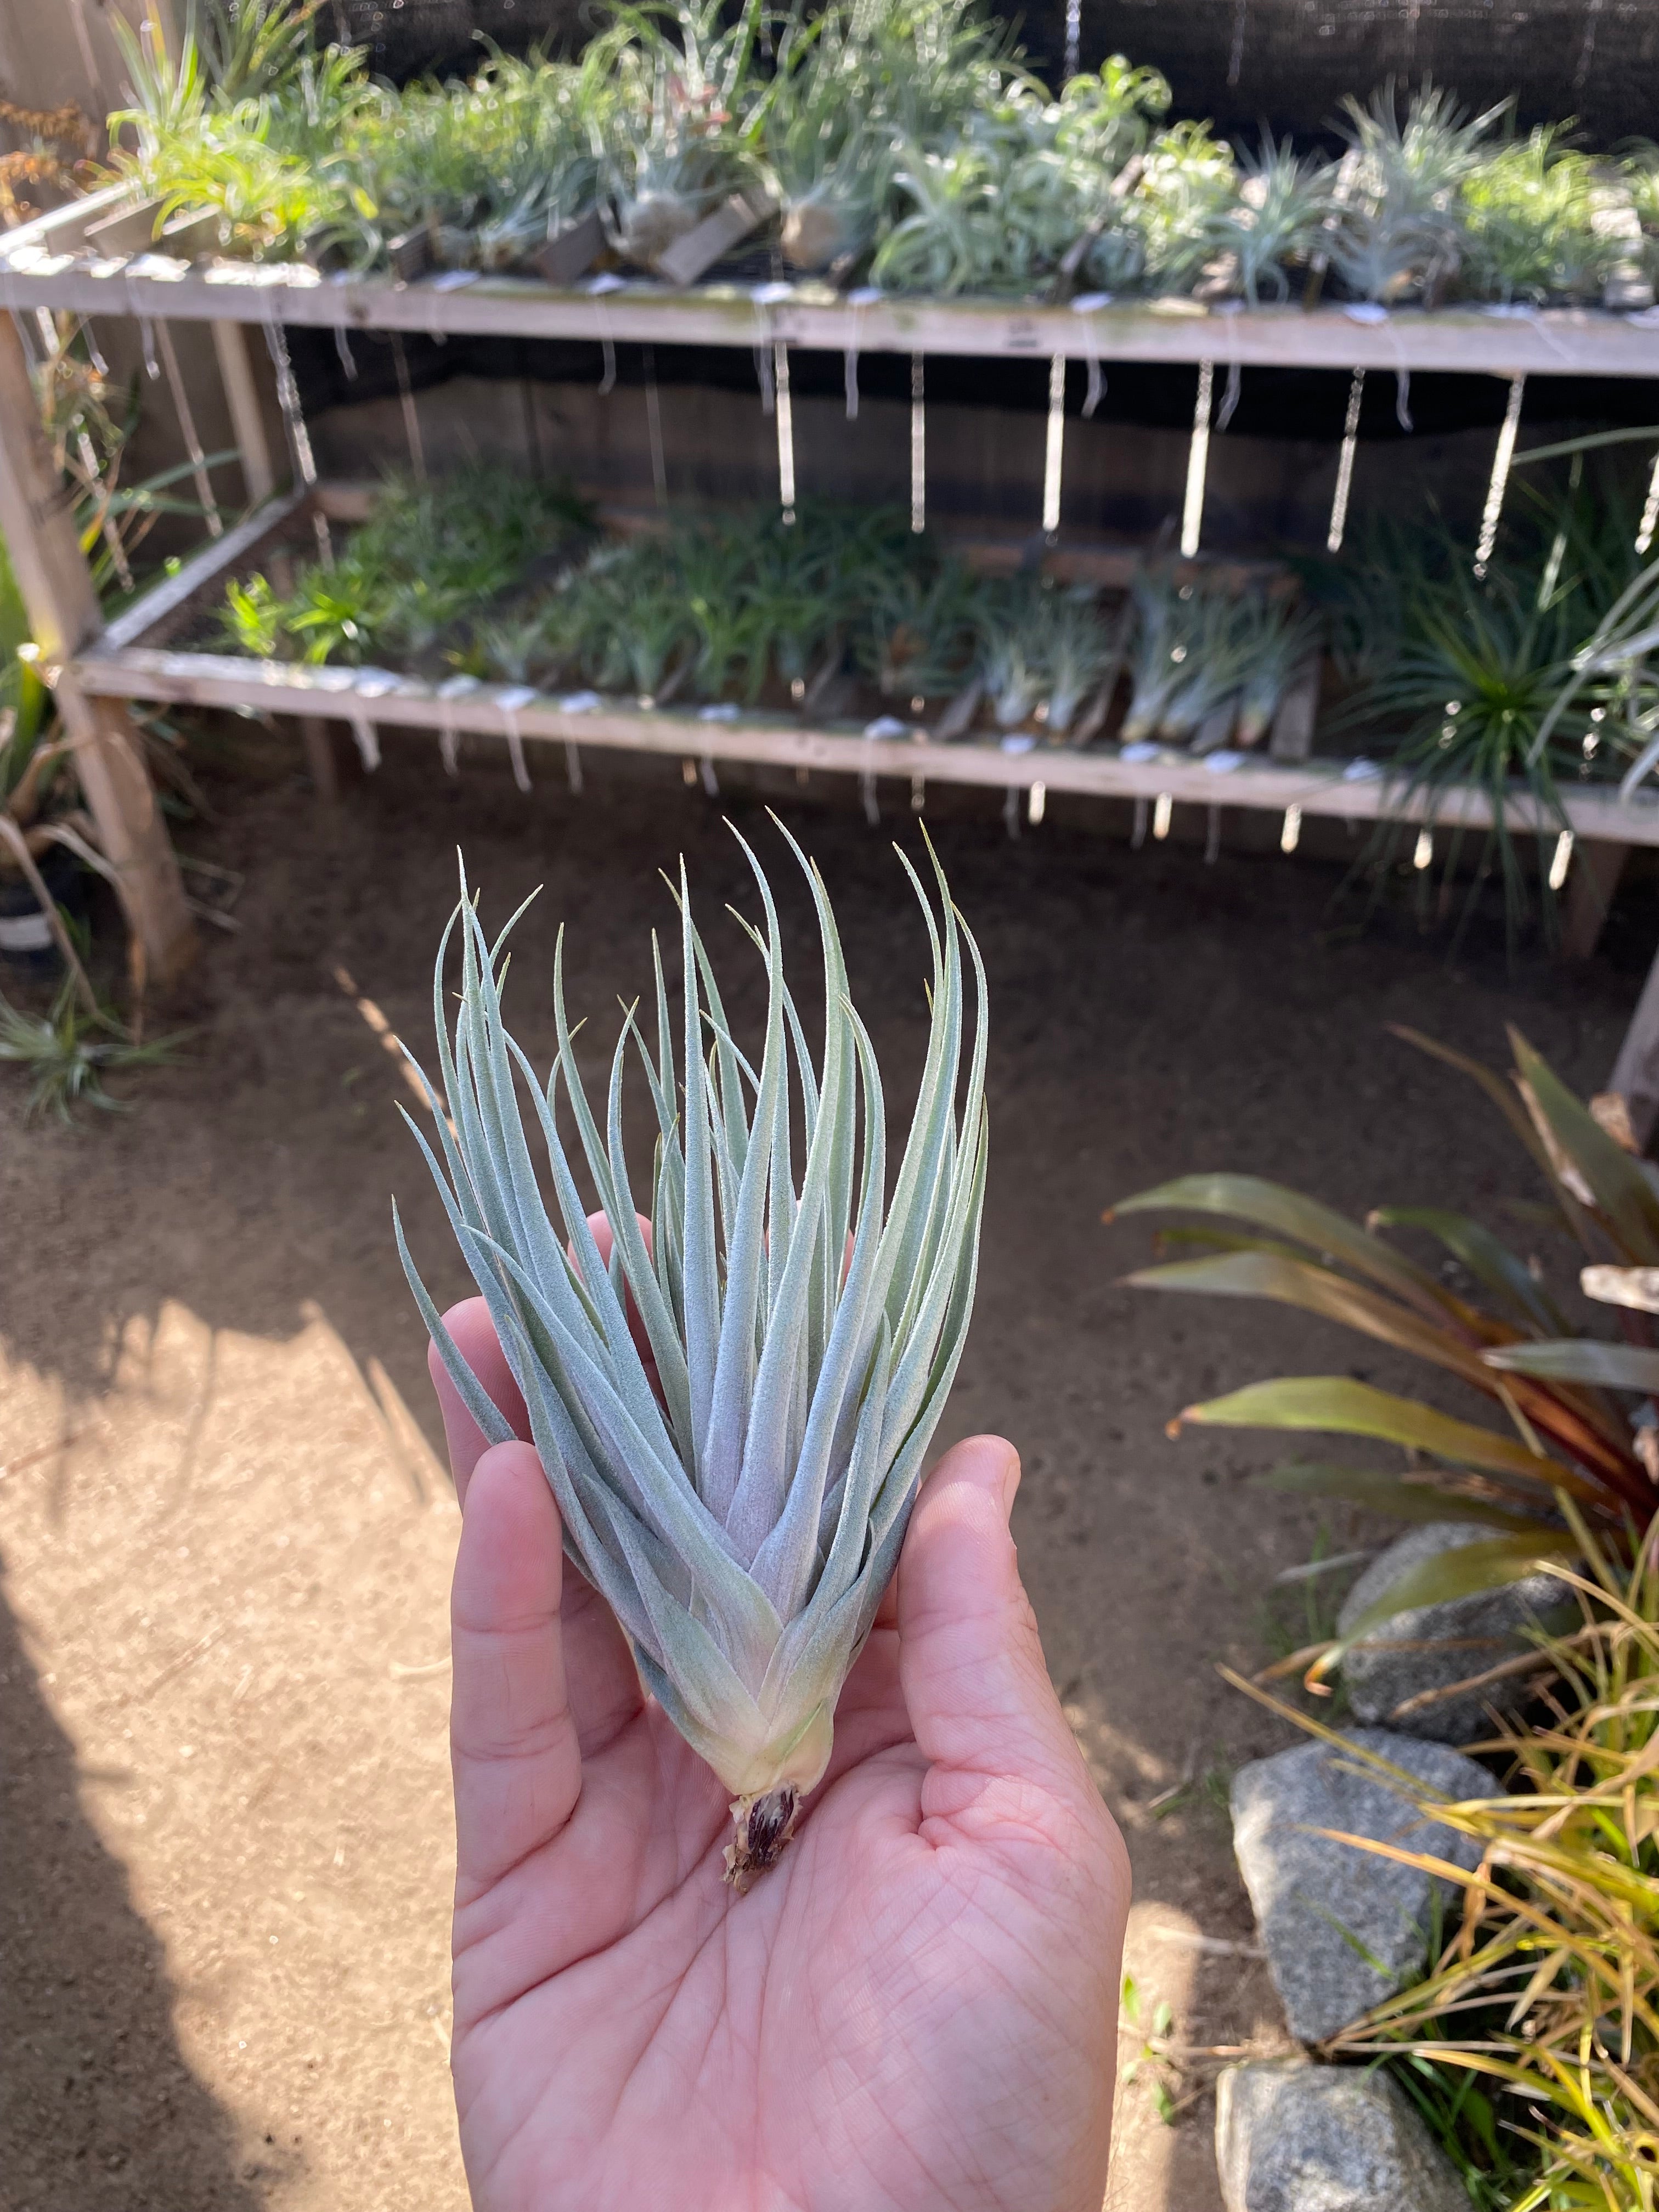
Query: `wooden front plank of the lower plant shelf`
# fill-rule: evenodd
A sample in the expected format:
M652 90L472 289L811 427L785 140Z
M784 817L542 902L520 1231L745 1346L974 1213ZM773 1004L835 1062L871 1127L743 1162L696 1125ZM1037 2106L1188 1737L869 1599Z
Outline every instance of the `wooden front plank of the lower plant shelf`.
M507 734L507 712L498 703L509 686L480 686L460 699L442 699L438 688L416 677L365 668L294 668L285 661L250 661L215 653L166 653L102 646L73 664L82 690L108 699L159 699L175 706L257 708L270 714L332 717L387 728L469 730ZM591 697L591 695L586 695ZM827 770L832 774L925 776L929 783L967 783L989 790L1084 792L1097 799L1159 799L1179 805L1256 807L1283 814L1369 823L1387 816L1425 821L1425 796L1400 792L1383 776L1349 781L1340 761L1279 763L1248 757L1228 774L1203 759L1164 752L1152 761L1126 761L1115 750L1071 752L1033 748L1004 752L989 743L938 745L914 737L863 737L856 728L803 730L770 714L739 714L703 721L697 712L641 712L619 701L568 710L555 697L538 697L515 708L513 723L531 743L577 743L672 759L748 761L774 768ZM1564 794L1566 816L1582 838L1624 845L1659 845L1659 799L1637 794L1619 803L1613 787L1582 787ZM1517 830L1540 827L1524 794L1506 807ZM1433 821L1447 827L1484 827L1491 805L1480 790L1444 794ZM1548 836L1553 821L1542 823Z

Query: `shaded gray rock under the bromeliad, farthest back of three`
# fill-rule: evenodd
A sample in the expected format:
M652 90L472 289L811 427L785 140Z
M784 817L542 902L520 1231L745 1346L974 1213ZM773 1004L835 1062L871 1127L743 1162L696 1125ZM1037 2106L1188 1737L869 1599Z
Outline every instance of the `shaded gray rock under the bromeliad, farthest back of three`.
M1336 1617L1338 1637L1347 1635L1349 1626L1400 1575L1442 1551L1486 1544L1491 1535L1493 1531L1482 1528L1480 1522L1429 1522L1422 1528L1409 1528L1371 1559L1347 1593ZM1551 1613L1559 1615L1559 1610L1562 1584L1551 1575L1528 1575L1526 1582L1511 1582L1498 1590L1475 1590L1471 1597L1451 1597L1440 1606L1416 1606L1411 1613L1396 1613L1391 1619L1378 1621L1371 1635L1343 1657L1343 1683L1354 1717L1398 1728L1407 1736L1433 1736L1438 1743L1473 1743L1475 1736L1489 1736L1489 1708L1513 1710L1524 1694L1524 1677L1509 1677L1509 1681L1495 1681L1486 1690L1469 1690L1464 1697L1440 1699L1400 1719L1394 1719L1394 1710L1422 1690L1467 1681L1469 1674L1480 1674L1484 1668L1524 1652L1528 1648L1526 1626L1546 1621Z

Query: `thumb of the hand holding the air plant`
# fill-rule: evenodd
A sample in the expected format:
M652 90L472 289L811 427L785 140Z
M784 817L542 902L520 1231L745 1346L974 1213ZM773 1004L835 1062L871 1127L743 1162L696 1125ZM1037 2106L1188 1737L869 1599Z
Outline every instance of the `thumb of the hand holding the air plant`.
M1020 1453L1000 1436L951 1447L925 1482L898 1562L905 1705L936 1770L1093 1798L1020 1582L1018 1489Z

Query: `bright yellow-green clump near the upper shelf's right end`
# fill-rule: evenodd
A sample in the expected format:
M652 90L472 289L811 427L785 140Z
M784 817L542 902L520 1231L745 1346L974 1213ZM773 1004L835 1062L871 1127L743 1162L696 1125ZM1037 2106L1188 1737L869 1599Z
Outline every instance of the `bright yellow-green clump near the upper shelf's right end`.
M1604 221L1597 164L1562 128L1511 139L1462 181L1467 281L1502 301L1599 299L1628 243Z

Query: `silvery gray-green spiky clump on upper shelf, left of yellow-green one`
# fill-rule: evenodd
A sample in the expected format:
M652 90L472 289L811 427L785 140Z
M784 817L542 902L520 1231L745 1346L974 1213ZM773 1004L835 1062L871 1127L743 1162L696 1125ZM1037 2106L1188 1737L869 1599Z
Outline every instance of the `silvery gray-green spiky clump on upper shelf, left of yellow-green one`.
M1400 117L1394 82L1367 106L1347 100L1349 155L1336 190L1332 263L1356 299L1433 303L1462 265L1460 192L1504 106L1469 115L1438 84Z

